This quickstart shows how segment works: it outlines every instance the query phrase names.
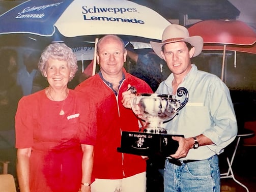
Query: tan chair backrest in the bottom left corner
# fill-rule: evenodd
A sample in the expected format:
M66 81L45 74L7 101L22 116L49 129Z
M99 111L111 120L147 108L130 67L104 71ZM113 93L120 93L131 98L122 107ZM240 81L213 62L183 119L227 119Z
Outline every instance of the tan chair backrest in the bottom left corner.
M0 191L17 192L13 175L0 174Z

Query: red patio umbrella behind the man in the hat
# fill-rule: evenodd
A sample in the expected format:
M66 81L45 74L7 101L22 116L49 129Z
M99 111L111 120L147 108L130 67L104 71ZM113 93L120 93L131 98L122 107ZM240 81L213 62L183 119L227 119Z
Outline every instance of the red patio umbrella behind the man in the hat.
M205 20L188 28L190 36L204 39L203 50L223 50L221 80L223 81L225 53L236 51L256 54L256 33L246 23L239 20Z

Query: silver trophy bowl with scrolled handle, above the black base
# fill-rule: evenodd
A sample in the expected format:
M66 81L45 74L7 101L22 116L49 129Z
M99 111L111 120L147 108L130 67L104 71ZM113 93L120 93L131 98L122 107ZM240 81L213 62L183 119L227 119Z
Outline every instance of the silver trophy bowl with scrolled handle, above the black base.
M131 108L135 115L146 123L141 131L145 133L166 134L163 122L173 119L188 102L188 91L180 87L178 97L185 96L183 102L175 99L175 95L140 93L131 100Z

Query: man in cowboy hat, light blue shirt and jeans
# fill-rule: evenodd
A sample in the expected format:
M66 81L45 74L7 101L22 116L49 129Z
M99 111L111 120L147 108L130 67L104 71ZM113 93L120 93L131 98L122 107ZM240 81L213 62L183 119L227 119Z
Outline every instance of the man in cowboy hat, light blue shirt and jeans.
M166 158L164 191L220 191L218 156L237 135L237 121L229 88L215 75L199 71L190 58L199 55L203 38L189 37L187 28L171 24L162 42L150 42L154 52L172 71L156 93L177 94L179 87L189 92L189 101L174 119L163 123L168 134L179 142L175 154ZM123 93L124 105L128 91Z

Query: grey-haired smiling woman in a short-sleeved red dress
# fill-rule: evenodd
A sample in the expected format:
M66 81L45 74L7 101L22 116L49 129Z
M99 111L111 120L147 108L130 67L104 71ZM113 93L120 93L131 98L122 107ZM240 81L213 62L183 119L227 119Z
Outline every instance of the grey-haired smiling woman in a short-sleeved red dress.
M91 190L95 138L90 102L67 87L76 62L64 43L50 44L39 61L49 86L19 101L15 129L20 192Z

